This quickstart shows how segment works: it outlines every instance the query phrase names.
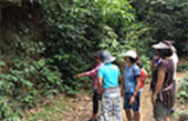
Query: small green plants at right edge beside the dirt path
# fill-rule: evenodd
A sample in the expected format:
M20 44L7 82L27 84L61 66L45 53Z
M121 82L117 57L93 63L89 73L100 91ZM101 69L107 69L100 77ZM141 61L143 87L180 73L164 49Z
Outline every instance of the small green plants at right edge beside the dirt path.
M181 103L185 103L188 101L188 75L181 80L181 82L179 83L179 92L178 92L178 100L181 102Z

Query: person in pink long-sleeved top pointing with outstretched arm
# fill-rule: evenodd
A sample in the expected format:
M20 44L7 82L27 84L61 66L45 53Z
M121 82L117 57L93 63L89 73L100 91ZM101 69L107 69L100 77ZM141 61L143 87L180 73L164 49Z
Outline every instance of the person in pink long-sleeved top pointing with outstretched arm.
M92 119L90 119L90 121L97 121L97 112L98 112L98 99L100 99L100 94L98 94L98 84L97 84L97 72L98 72L98 68L103 65L102 63L103 57L102 57L102 51L97 51L95 53L95 62L96 62L96 67L87 72L83 72L83 73L79 73L76 74L76 78L81 78L81 77L92 77L94 80L94 92L93 92L93 117Z

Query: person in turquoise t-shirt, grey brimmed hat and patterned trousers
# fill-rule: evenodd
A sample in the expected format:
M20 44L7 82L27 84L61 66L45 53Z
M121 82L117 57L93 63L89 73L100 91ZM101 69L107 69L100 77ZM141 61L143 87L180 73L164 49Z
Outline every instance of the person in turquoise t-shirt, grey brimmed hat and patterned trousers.
M98 69L98 89L102 93L102 107L100 121L122 121L121 72L117 65L112 62L115 57L104 51L104 65Z

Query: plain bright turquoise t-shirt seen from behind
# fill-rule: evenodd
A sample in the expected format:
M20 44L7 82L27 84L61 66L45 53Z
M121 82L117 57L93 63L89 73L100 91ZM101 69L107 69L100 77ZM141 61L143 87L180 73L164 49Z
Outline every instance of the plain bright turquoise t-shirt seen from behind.
M98 69L98 78L103 78L103 88L118 87L118 77L121 75L117 65L106 63Z

